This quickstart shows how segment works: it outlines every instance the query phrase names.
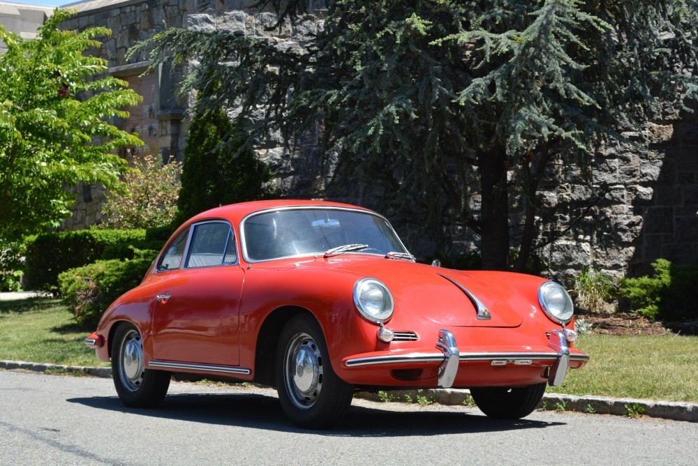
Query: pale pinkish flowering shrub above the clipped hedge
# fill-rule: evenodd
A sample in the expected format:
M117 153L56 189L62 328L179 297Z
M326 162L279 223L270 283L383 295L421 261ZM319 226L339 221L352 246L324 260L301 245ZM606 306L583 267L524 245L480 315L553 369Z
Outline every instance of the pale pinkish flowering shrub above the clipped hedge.
M124 175L125 188L110 193L102 212L110 228L165 227L177 213L181 163L161 163L145 156L136 170Z

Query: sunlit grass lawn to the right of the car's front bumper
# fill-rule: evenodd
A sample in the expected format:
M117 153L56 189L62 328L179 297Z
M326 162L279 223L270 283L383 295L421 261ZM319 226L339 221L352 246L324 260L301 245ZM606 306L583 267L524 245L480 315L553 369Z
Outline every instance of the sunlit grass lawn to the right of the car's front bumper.
M698 403L698 337L584 335L575 347L591 361L547 391Z

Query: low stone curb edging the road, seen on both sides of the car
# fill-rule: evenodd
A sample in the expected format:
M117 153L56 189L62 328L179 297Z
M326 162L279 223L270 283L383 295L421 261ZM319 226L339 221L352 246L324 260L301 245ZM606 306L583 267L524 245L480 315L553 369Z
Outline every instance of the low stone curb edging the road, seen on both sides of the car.
M25 361L0 361L0 369L22 369L43 373L77 373L93 375L94 377L112 377L111 368L62 366L60 364L29 363ZM378 393L362 391L357 393L356 396L372 401L385 401L387 396L390 401L397 402L407 402L408 400L415 402L418 397L424 396L440 405L463 405L463 402L469 405L469 402L472 401L470 400L470 391L461 389L392 390L385 393L387 395L381 397ZM629 412L634 412L672 421L698 422L698 404L677 401L545 393L542 403L538 407L550 410L561 408L564 411L588 412L590 414L613 414L614 416L625 416Z

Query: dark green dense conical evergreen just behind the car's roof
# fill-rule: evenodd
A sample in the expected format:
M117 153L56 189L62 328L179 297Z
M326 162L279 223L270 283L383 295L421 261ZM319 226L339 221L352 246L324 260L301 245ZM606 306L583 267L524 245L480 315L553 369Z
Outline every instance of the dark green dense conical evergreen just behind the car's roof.
M233 123L221 107L195 112L184 149L180 220L221 205L269 197L265 183L272 172L246 140L242 121Z

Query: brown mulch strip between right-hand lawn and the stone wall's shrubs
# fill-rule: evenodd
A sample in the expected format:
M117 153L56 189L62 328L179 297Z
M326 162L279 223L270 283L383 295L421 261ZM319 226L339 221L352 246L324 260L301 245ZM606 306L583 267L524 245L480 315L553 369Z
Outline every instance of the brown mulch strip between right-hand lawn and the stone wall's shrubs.
M698 321L655 322L628 313L579 314L577 319L591 324L591 333L595 335L698 335Z

